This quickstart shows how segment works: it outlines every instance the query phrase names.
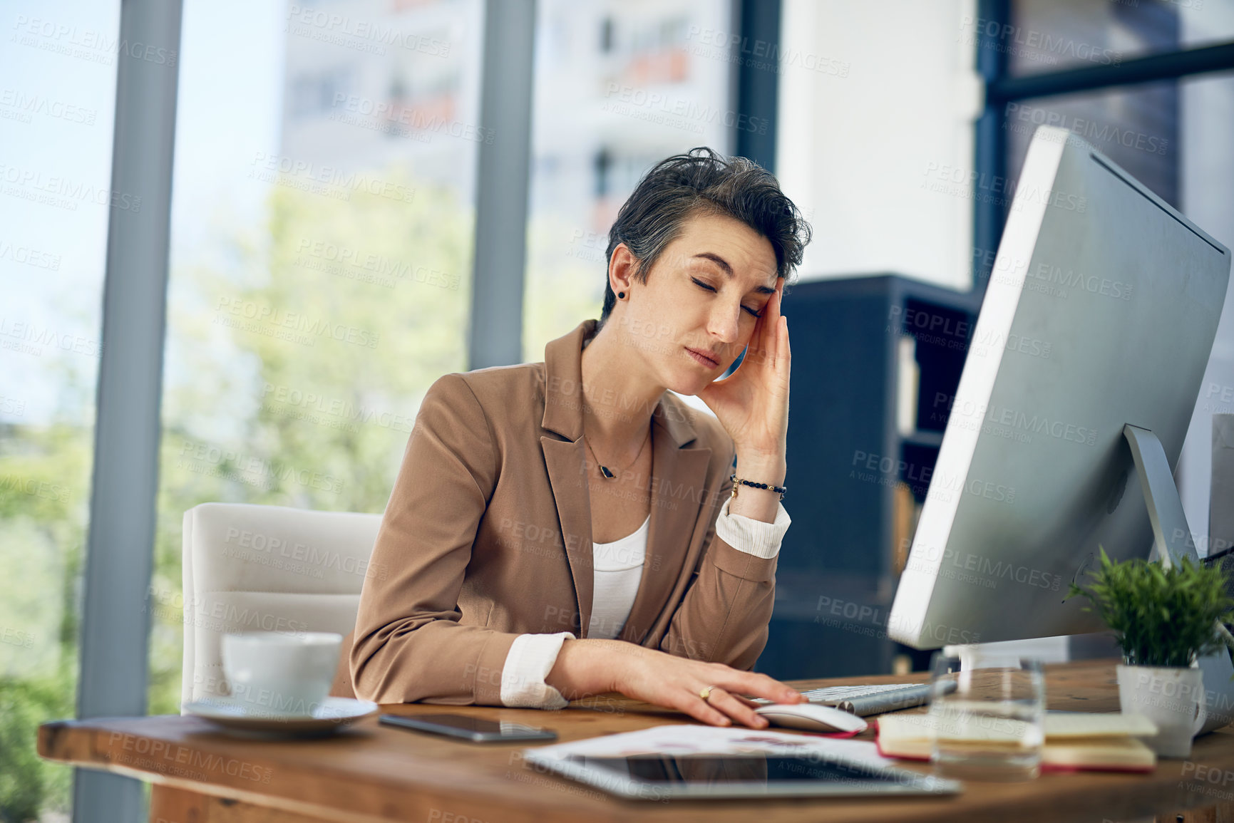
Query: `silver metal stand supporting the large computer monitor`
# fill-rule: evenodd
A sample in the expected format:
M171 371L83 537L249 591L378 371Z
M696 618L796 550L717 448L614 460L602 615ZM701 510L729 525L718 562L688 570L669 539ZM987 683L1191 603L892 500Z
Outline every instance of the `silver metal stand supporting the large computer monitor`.
M1140 490L1153 523L1153 553L1165 568L1178 565L1183 558L1199 563L1196 543L1182 511L1182 498L1174 482L1170 461L1161 448L1161 440L1146 428L1123 427L1123 437L1132 447L1135 473L1140 478ZM1234 722L1234 664L1225 648L1199 659L1204 672L1204 702L1208 718L1199 733L1212 732Z

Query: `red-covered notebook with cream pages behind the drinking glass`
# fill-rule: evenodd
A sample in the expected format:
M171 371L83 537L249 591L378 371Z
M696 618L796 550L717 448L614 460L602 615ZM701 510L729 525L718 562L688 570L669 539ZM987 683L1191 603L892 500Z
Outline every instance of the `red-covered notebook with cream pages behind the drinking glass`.
M929 714L885 714L879 718L879 753L887 758L929 760L937 719ZM1041 769L1045 771L1153 771L1156 755L1138 738L1156 734L1140 714L1046 712ZM974 733L974 748L1021 745L1007 724Z

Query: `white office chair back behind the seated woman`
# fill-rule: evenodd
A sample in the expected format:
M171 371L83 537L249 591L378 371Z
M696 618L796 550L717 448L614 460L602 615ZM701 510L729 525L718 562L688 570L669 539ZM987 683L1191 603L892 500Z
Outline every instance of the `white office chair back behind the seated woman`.
M180 701L231 693L230 632L338 632L355 612L380 515L201 503L184 513L184 670ZM344 643L346 647L346 643ZM331 693L352 696L347 654Z

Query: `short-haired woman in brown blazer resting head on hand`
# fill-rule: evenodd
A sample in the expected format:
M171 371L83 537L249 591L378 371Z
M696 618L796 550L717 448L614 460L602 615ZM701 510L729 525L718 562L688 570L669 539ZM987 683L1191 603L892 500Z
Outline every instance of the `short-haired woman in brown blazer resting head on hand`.
M360 596L358 697L561 708L617 691L756 728L739 695L803 700L748 670L790 523L780 300L808 241L768 172L671 157L612 226L598 322L543 363L433 383L373 550L385 574Z

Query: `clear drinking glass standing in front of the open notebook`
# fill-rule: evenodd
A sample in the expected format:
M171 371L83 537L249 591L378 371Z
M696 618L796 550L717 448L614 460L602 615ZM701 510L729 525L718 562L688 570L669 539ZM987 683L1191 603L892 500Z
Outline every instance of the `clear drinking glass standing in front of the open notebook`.
M934 655L932 760L960 780L1033 780L1041 771L1045 677L1041 661L1018 655Z

